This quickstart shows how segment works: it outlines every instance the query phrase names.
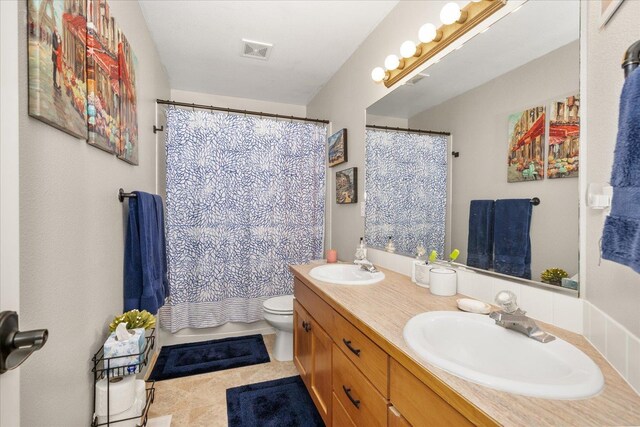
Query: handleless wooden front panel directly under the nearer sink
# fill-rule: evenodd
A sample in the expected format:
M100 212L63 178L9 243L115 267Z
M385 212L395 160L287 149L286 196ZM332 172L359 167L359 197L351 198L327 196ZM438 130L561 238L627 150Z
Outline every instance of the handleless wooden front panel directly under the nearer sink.
M391 403L412 425L452 427L473 425L394 359L391 359L390 363L389 380Z

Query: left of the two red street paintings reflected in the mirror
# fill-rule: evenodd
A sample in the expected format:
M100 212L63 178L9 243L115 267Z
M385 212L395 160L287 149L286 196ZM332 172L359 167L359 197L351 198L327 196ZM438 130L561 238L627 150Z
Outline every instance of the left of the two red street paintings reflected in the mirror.
M545 107L509 115L507 182L544 179Z

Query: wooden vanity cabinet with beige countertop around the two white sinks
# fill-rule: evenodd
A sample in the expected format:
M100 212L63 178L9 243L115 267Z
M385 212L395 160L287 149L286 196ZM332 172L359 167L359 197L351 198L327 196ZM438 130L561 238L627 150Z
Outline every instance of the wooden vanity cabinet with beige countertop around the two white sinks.
M409 319L457 311L460 295L433 296L389 270L374 285L335 285L313 279L315 266L291 267L294 363L327 426L640 424L640 397L578 334L539 322L596 362L605 377L598 395L548 400L493 390L422 361L404 341Z

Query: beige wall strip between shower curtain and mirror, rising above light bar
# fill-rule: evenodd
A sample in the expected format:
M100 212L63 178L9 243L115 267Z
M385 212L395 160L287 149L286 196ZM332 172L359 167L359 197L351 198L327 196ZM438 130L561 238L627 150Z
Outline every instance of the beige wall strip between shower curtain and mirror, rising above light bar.
M371 80L371 70L380 66L384 58L398 50L398 46L415 38L415 32L425 22L438 22L444 1L399 2L376 27L358 50L329 80L307 105L310 117L331 120L332 131L348 130L348 158L328 171L326 246L338 250L341 260L353 260L355 248L364 235L364 218L360 203L337 205L335 202L335 172L358 167L364 176L364 137L366 109L390 92L382 84ZM359 200L362 200L364 180L358 180Z

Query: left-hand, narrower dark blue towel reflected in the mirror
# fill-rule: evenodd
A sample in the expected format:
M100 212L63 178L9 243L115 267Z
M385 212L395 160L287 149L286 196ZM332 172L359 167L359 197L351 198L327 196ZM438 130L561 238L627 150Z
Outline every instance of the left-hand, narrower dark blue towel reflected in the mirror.
M467 265L469 267L493 267L493 200L472 200L469 206L469 237L467 240Z

